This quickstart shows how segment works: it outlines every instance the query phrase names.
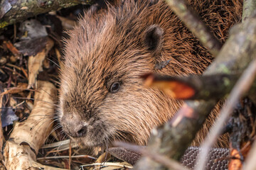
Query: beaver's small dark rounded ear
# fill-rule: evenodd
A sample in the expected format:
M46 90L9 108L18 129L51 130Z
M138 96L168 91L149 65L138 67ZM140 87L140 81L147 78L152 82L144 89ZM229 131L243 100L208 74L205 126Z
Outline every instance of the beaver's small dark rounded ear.
M149 50L159 51L163 43L164 30L157 25L149 26L144 37L145 44Z

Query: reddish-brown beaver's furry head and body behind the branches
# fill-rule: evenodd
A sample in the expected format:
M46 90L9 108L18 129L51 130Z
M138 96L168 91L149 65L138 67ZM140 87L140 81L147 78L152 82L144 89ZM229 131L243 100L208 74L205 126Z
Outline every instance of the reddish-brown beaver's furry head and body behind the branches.
M188 0L188 5L221 42L242 17L242 0ZM172 118L183 101L145 88L142 74L202 74L213 61L161 0L120 1L102 12L88 11L69 35L60 70L59 120L70 137L90 147L114 140L146 145L152 128ZM156 68L167 60L164 68ZM215 109L193 145L217 115Z

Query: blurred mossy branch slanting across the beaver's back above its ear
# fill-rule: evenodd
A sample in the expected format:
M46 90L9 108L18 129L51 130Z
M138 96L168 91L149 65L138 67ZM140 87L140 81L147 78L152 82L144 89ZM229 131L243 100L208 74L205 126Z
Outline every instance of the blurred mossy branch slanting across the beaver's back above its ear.
M166 0L176 15L186 24L186 26L205 45L213 57L218 55L221 48L220 41L214 37L206 25L201 21L191 8L188 8L184 0Z

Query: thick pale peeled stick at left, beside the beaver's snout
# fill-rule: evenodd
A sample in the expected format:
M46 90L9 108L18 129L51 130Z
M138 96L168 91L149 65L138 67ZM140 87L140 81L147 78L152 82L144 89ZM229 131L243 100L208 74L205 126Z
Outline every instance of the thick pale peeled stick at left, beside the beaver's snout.
M36 155L53 128L55 86L38 81L38 91L28 119L16 123L4 147L6 169L56 169L36 162Z

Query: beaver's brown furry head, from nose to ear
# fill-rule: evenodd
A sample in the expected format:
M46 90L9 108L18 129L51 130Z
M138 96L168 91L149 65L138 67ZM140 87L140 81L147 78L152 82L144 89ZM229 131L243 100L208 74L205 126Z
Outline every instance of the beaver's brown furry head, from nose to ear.
M60 77L60 123L88 146L112 140L144 145L151 128L166 120L159 115L163 94L144 88L139 78L154 71L163 30L128 31L107 19L82 20L70 33Z

